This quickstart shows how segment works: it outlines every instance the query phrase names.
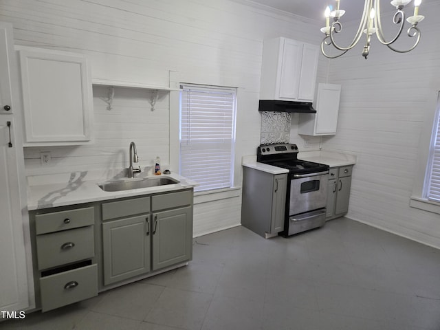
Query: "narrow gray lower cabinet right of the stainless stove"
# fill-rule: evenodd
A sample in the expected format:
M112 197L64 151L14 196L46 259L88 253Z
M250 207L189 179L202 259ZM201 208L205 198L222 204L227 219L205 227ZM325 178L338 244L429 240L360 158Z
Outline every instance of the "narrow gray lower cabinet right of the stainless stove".
M342 217L349 211L352 170L353 166L330 168L326 220Z

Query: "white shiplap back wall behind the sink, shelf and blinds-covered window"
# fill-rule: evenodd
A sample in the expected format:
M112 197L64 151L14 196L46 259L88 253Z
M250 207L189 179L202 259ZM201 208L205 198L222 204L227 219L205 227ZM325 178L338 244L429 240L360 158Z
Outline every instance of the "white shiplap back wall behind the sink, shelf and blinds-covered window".
M241 156L254 155L259 145L263 40L285 36L318 44L322 38L320 24L228 0L0 0L0 20L12 23L17 45L86 54L93 78L168 85L170 72L178 72L184 83L238 87L236 186ZM326 77L327 60L321 58L318 81ZM29 174L127 167L131 140L142 166L156 155L163 162L173 157L168 96L152 112L148 91L118 88L107 110L106 93L94 87L95 143L25 148ZM50 166L40 166L40 151L51 152ZM195 235L238 225L240 196L195 206Z

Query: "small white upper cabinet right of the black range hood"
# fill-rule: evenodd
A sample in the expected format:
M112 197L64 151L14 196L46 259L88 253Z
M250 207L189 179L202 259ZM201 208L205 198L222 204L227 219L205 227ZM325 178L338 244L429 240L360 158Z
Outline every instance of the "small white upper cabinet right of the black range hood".
M341 85L319 84L316 113L300 113L298 133L304 135L334 135L338 126Z

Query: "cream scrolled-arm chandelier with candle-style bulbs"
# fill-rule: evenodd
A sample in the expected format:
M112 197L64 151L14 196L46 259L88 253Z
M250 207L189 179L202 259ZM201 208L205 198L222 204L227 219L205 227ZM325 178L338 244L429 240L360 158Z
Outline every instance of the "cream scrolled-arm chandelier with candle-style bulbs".
M393 43L399 39L401 36L401 32L404 30L405 24L405 12L403 11L405 5L408 5L412 0L393 0L391 1L391 5L396 8L396 12L393 17L393 23L399 25L399 29L397 34L395 34L394 38L386 41L384 37L384 32L382 30L382 22L380 15L380 0L365 0L364 3L364 12L362 14L362 19L360 20L358 32L356 32L355 37L351 44L347 47L341 47L338 45L334 39L334 34L340 33L342 31L342 23L339 21L342 15L345 13L345 10L340 9L340 0L336 0L336 10L331 10L330 6L327 6L325 10L325 27L321 29L321 32L325 34L324 39L321 42L321 52L327 58L337 58L339 56L344 55L349 50L351 50L355 45L357 45L362 38L362 34L365 34L365 45L364 50L362 51L362 56L366 59L366 56L370 53L370 43L371 36L376 34L377 39L382 43L382 45L386 45L389 49L394 52L406 53L413 50L420 41L420 30L417 27L417 24L422 21L425 17L419 15L419 5L421 0L414 0L414 14L411 17L408 17L406 21L411 24L410 28L406 31L406 34L410 38L415 38L415 43L412 47L406 50L398 50L393 47ZM333 22L330 24L330 17L333 17ZM340 50L341 53L337 55L329 55L325 52L325 47L333 45L337 50Z

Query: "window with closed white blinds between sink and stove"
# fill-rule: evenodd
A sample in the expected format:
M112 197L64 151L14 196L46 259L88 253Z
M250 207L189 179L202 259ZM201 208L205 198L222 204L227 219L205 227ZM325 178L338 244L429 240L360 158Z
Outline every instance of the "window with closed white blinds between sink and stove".
M179 173L195 191L230 188L233 181L236 89L181 85Z

